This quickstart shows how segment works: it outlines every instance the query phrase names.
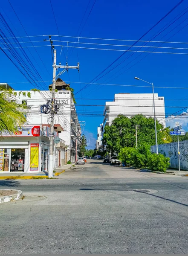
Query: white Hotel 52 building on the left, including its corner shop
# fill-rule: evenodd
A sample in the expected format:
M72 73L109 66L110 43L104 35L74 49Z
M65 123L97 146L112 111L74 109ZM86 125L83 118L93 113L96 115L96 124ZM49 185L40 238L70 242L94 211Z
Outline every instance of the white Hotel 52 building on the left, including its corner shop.
M71 91L65 90L67 87L69 87L68 84L65 84L61 79L57 79L56 89L58 91L55 93L55 103L59 105L59 109L54 119L55 140L57 138L54 143L54 168L66 164L67 161L74 163L76 153L77 156L79 154L81 127ZM5 139L0 142L0 148L5 156L6 169L4 170L4 167L0 165L0 171L47 171L49 164L50 113L42 113L40 107L46 105L48 100L51 99L51 92L49 90L14 90L11 99L27 106L25 112L27 122L23 128L17 129L19 131L15 131L14 134L2 134ZM35 135L33 131L37 131L38 134ZM32 155L34 145L36 146L35 151L38 152L36 153L38 154L38 160ZM9 163L7 156L9 156ZM19 157L21 158L19 159ZM29 163L31 165L31 157L35 158L38 167L32 168L32 166L29 166ZM12 160L14 158L15 160ZM17 169L19 160L23 160L24 167L22 170ZM13 162L16 163L15 168L12 166L14 165Z

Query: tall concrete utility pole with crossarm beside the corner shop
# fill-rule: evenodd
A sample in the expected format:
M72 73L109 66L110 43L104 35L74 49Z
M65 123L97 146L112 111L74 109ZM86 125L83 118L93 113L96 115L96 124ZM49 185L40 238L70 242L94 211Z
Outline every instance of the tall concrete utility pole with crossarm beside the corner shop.
M49 171L48 171L49 178L53 177L55 74L56 74L56 50L54 50L54 63L53 63L52 111L51 111L51 118L50 118L50 137L49 137Z

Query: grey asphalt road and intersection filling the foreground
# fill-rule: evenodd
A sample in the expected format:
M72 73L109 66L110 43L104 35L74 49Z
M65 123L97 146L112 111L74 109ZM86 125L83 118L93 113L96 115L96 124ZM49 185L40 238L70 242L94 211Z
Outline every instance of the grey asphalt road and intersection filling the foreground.
M0 254L188 253L188 177L90 160L53 180L0 180Z

